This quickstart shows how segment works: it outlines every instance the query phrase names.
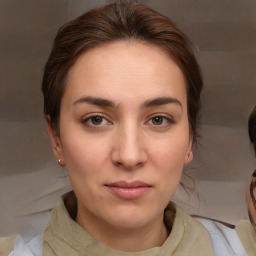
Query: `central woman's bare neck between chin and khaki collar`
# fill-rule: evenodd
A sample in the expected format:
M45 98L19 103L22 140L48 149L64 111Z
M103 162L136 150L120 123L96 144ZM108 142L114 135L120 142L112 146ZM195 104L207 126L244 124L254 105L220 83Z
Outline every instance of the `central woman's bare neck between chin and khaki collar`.
M168 237L163 216L142 227L113 227L95 216L84 216L78 205L76 222L103 245L124 252L139 252L161 246Z

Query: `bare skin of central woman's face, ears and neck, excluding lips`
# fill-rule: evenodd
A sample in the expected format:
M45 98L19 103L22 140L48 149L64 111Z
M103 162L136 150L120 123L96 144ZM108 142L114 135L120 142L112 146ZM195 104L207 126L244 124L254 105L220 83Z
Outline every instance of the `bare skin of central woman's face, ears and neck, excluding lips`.
M164 243L164 209L193 154L185 79L163 50L117 42L81 55L68 73L60 136L48 132L88 233L120 251ZM108 186L117 181L148 188L120 198Z

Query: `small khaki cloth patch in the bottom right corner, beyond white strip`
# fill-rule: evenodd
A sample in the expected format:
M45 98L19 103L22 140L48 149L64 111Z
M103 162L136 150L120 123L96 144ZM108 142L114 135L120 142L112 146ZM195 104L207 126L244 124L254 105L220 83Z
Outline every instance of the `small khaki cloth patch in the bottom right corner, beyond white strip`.
M256 230L250 221L239 221L236 225L236 232L248 255L256 255Z

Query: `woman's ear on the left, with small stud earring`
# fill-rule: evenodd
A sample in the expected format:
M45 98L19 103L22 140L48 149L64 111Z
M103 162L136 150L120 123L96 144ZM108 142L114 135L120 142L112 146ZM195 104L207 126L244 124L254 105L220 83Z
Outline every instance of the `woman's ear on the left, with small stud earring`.
M59 135L57 135L56 131L53 130L50 117L47 116L46 120L47 132L50 137L52 143L53 154L56 157L59 165L65 166L64 154L62 149L62 144Z

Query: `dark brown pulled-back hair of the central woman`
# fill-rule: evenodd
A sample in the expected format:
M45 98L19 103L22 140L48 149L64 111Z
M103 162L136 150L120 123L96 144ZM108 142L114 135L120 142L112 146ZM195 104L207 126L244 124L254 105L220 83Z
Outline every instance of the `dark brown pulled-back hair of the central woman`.
M203 82L187 36L169 18L150 7L123 0L92 9L59 29L42 82L44 115L55 132L59 134L60 105L69 69L84 52L117 41L156 45L181 68L187 83L188 118L195 142Z

